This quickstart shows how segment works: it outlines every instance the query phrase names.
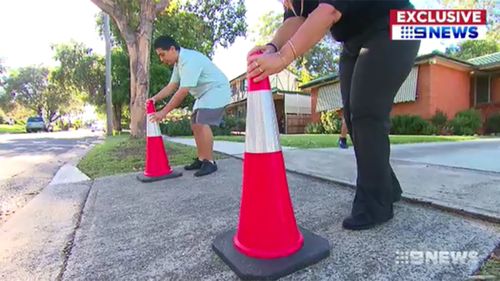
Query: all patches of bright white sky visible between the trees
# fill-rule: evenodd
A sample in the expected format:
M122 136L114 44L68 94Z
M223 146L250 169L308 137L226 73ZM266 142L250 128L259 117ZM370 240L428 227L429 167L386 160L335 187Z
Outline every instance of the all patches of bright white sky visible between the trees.
M420 7L435 7L434 0L413 0ZM279 0L246 0L250 30L259 17L270 10L282 11ZM84 43L104 54L104 41L96 28L99 8L90 0L3 0L0 1L0 60L8 68L29 65L54 66L52 44L70 40ZM250 36L248 36L250 37ZM227 49L217 48L214 62L229 79L245 72L246 53L253 47L249 38L240 37ZM435 49L439 43L422 43L420 54Z

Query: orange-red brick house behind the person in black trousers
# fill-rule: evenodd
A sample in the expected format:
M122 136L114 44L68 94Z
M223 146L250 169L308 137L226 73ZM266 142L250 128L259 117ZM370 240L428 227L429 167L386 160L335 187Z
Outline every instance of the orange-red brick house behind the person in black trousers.
M335 74L300 86L311 93L311 122L320 112L340 110L342 98ZM440 110L452 119L459 111L475 108L483 121L500 113L500 52L468 61L439 53L417 57L394 98L391 115L419 115L430 119Z

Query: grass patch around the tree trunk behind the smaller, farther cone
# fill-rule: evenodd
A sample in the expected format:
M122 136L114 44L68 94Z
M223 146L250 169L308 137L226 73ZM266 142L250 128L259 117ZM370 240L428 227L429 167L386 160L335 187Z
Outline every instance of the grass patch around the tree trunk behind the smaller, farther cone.
M171 166L189 164L196 156L196 148L164 142ZM127 135L106 138L95 146L78 164L78 168L91 178L144 171L146 141ZM221 154L216 159L223 158Z

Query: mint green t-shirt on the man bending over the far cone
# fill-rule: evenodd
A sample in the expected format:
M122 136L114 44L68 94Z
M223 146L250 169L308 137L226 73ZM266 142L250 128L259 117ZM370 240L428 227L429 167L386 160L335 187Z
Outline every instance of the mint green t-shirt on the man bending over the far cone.
M231 102L229 80L208 57L194 50L181 48L170 83L189 89L196 98L193 110L225 107Z

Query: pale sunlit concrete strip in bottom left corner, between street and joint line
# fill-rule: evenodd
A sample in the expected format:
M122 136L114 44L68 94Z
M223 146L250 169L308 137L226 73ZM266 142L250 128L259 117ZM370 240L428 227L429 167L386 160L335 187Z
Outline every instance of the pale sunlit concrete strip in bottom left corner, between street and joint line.
M90 181L49 185L0 227L0 280L58 280Z

